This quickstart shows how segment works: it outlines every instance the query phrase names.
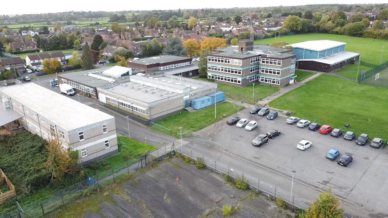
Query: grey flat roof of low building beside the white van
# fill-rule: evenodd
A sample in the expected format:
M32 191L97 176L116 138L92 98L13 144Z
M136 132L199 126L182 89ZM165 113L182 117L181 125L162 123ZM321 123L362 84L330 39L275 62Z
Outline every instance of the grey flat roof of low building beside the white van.
M101 67L101 68L91 69L91 70L86 70L86 71L77 71L77 72L59 74L58 76L61 78L67 79L67 80L72 80L72 81L77 82L77 83L82 83L84 85L87 85L88 87L100 87L100 86L104 86L107 84L111 84L111 83L109 83L108 80L101 80L101 79L97 79L97 78L92 77L92 76L88 76L88 74L90 74L92 72L95 72L94 75L97 75L97 77L103 76L107 79L115 80L116 83L120 83L120 82L122 83L123 81L129 80L129 76L124 76L124 78L123 77L116 78L116 77L112 77L112 76L106 76L103 74L103 71L107 71L108 69L111 69L111 68L112 67ZM127 68L127 67L124 67L124 68ZM128 69L130 69L130 68L128 68ZM132 74L137 74L137 73L142 73L142 72L144 72L144 71L132 69Z

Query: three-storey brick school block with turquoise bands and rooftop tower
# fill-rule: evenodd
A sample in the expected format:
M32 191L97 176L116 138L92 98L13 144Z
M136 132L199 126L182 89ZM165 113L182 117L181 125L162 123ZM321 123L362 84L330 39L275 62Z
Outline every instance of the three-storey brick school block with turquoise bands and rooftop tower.
M253 83L283 87L296 78L295 57L291 49L240 40L238 46L213 50L208 55L208 78L240 87Z

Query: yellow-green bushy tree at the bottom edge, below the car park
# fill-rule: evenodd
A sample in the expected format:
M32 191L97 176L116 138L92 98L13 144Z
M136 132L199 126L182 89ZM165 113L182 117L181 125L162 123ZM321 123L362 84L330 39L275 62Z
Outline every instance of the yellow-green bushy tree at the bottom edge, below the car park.
M319 199L312 202L306 210L306 218L342 218L345 209L339 208L338 199L329 192L321 192Z

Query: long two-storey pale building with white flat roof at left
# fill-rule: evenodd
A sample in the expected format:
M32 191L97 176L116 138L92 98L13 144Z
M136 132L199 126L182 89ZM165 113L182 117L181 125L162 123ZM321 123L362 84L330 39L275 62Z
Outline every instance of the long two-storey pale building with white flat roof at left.
M45 140L58 137L63 149L79 152L83 165L118 153L114 117L35 83L0 88L3 110ZM13 113L15 114L15 113Z

